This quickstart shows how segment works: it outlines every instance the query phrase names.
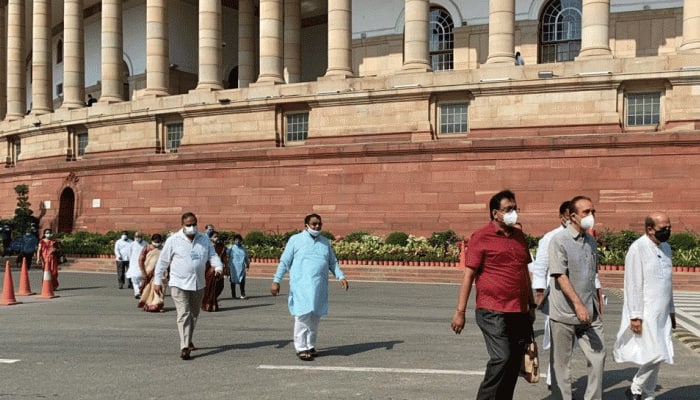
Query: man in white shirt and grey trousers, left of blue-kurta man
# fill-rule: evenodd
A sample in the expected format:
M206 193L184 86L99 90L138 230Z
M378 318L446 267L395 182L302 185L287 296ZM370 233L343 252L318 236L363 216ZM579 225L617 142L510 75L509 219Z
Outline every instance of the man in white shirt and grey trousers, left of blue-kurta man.
M163 272L170 267L170 294L177 310L180 358L183 360L189 360L190 352L195 350L192 335L204 298L207 261L218 276L223 275L224 265L214 245L207 235L197 232L197 217L187 212L182 215L182 229L165 241L153 278L153 290L162 294Z

